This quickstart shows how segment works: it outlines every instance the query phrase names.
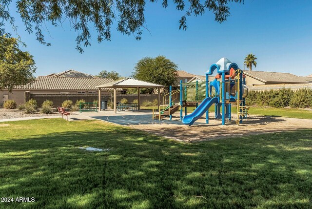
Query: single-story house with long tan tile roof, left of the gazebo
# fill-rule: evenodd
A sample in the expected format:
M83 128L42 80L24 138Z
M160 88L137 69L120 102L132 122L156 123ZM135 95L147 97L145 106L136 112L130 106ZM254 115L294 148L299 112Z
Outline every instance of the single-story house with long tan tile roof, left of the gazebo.
M94 94L98 95L96 86L113 82L112 79L90 77L78 71L69 70L62 73L39 76L35 81L15 86L12 93L8 90L0 91L0 103L14 100L17 104L25 103L25 91L33 94ZM73 76L75 75L75 76ZM103 88L101 94L109 94L110 89Z

